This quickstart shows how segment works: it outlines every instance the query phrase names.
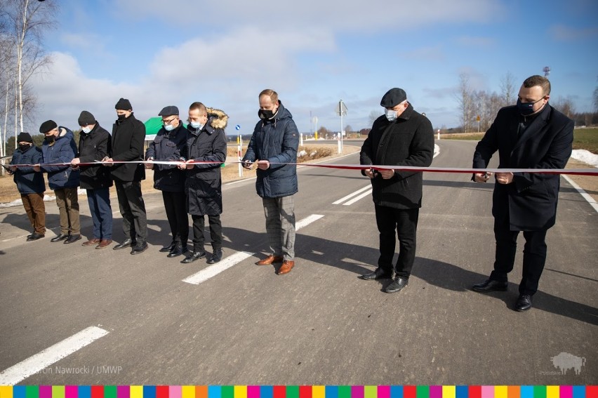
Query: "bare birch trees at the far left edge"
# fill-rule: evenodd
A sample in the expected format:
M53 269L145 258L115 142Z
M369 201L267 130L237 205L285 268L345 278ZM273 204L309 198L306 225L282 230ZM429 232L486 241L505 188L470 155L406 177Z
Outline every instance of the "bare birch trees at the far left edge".
M51 62L41 38L55 24L56 12L54 1L0 0L0 157L6 156L7 132L24 131L24 119L34 110L27 83Z

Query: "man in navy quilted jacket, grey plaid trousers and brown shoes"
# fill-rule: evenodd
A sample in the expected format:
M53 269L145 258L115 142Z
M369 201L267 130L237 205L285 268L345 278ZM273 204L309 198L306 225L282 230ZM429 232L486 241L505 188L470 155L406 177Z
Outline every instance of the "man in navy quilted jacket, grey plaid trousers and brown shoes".
M243 166L258 164L255 188L262 197L266 231L270 241L269 256L257 265L282 263L277 274L291 272L295 265L295 203L298 192L297 149L299 132L291 112L278 99L276 91L266 89L259 95L260 121L243 158Z

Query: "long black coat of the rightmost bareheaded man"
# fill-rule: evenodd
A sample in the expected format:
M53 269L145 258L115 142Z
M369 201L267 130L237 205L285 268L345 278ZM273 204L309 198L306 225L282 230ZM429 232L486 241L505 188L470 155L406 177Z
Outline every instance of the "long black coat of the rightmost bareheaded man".
M498 111L477 144L474 168L486 168L497 150L498 168L564 168L573 149L573 120L546 105L518 138L521 118L516 106ZM513 183L495 183L492 214L508 216L512 231L547 230L557 218L559 187L559 175L514 173Z

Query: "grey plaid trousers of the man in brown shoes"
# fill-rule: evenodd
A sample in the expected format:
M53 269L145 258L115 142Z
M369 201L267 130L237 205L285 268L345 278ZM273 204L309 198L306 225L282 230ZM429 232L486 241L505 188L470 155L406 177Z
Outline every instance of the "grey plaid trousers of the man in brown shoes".
M270 250L284 260L295 258L295 201L293 195L262 198Z

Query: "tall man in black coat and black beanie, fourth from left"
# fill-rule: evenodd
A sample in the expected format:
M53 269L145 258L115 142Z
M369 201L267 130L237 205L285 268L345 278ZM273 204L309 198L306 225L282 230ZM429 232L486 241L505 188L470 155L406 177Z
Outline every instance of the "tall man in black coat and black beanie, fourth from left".
M142 163L112 162L143 160L145 125L135 119L131 102L126 98L121 98L114 108L118 119L112 126L112 157L106 157L104 162L112 166L125 235L125 240L114 246L114 250L131 247L131 254L139 254L147 248L147 215L141 196L145 166Z

